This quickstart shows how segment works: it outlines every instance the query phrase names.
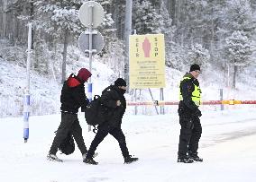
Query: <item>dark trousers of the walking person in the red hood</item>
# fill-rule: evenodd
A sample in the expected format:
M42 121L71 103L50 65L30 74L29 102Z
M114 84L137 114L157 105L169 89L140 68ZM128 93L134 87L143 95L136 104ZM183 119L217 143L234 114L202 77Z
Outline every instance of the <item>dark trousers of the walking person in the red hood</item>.
M78 115L71 113L61 113L61 122L57 133L50 147L50 153L58 152L59 144L67 137L69 132L74 136L78 149L82 154L87 153L87 147L82 135L82 128L79 125Z

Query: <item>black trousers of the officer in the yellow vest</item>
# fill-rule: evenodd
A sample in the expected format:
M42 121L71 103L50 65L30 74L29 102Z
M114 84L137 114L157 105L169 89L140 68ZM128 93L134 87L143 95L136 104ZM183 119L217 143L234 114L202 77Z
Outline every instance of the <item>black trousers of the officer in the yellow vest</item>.
M198 143L202 134L199 117L179 116L181 126L178 143L178 156L185 156L187 152L197 153Z

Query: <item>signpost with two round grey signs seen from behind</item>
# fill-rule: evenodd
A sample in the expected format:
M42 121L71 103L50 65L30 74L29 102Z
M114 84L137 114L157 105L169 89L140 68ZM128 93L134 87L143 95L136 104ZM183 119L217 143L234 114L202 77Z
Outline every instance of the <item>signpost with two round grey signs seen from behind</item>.
M104 20L104 9L95 1L88 1L79 9L79 20L88 29L81 33L78 43L81 51L89 57L89 71L92 72L92 56L100 52L104 46L102 35L96 29ZM93 83L88 81L88 99L92 100ZM91 126L88 126L91 131Z

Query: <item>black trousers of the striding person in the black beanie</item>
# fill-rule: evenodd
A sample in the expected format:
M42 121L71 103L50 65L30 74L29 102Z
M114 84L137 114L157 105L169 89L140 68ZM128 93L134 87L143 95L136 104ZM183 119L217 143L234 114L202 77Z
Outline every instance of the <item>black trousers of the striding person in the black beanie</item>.
M87 153L87 158L93 157L96 151L96 147L99 145L99 143L101 143L104 140L107 134L113 135L114 138L117 140L122 151L123 158L129 156L128 148L125 142L125 136L123 134L121 127L108 126L107 123L104 123L103 125L98 127L96 136L92 141L89 151Z

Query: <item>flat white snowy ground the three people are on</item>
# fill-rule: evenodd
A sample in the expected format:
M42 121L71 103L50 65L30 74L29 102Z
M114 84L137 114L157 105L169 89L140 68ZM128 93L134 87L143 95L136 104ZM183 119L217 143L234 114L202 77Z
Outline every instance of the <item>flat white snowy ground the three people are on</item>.
M87 147L94 134L80 123ZM63 163L46 160L59 126L59 115L30 117L30 138L23 143L23 118L0 119L0 181L256 181L256 109L204 111L199 154L202 163L177 163L178 116L123 118L129 151L140 160L123 164L118 143L107 136L97 149L97 166L82 162L81 154L59 154Z

